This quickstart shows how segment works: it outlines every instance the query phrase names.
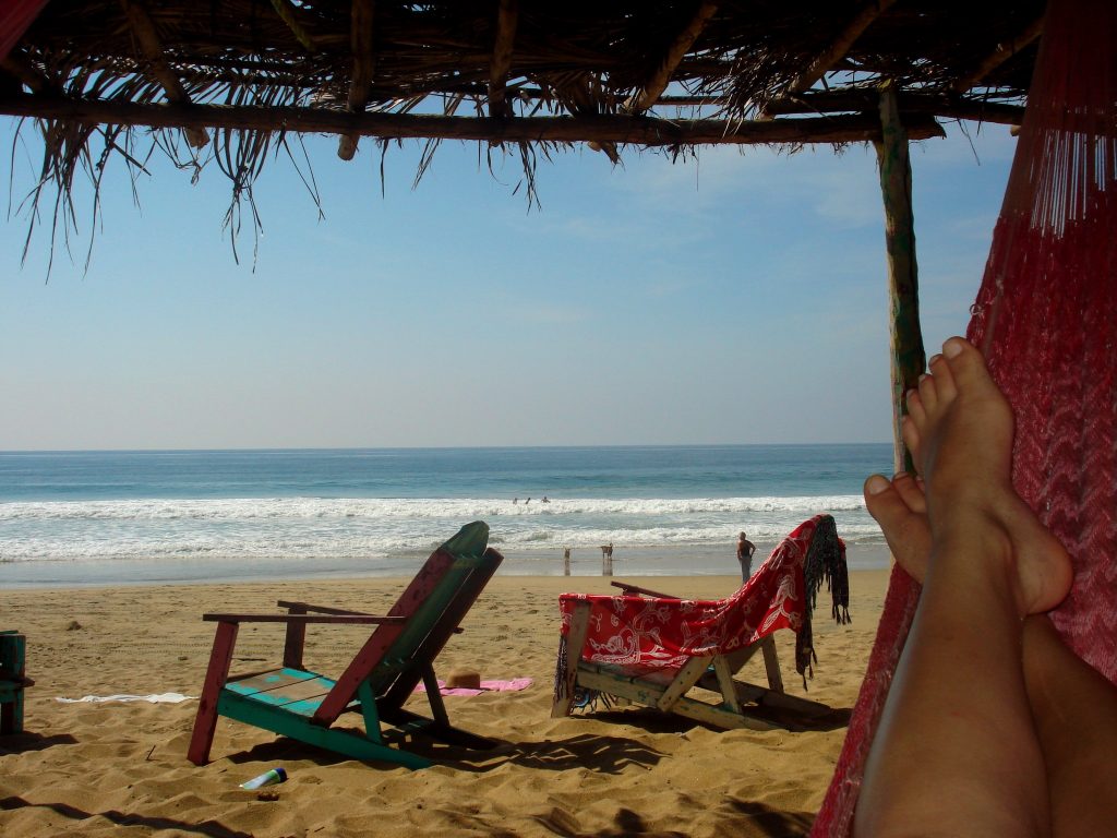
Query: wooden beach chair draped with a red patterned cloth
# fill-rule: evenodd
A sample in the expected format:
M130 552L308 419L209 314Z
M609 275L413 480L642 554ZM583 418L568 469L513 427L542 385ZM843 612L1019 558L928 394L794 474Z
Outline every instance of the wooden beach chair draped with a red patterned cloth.
M551 715L638 704L715 727L795 727L829 716L824 704L789 695L772 634L798 634L796 669L814 659L811 610L828 580L833 616L847 622L844 545L833 518L796 527L756 573L725 600L682 600L614 582L619 597L563 594L562 640ZM736 679L760 651L767 686Z

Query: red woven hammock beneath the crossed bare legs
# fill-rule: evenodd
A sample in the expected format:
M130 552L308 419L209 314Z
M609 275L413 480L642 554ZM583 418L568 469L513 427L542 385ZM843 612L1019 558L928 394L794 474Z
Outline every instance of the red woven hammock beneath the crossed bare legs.
M1117 683L1115 56L1117 2L1052 0L967 336L1016 416L1016 492L1073 561L1073 588L1052 622ZM895 569L815 838L849 834L917 598Z

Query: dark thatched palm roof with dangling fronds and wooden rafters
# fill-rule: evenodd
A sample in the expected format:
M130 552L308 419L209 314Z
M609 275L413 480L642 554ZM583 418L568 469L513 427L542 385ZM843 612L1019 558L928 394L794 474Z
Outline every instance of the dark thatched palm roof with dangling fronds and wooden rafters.
M34 1L34 0L32 0ZM1042 0L49 0L0 63L68 197L114 155L217 161L239 198L289 132L510 145L844 143L1018 123ZM159 128L136 133L136 127ZM182 142L182 140L185 142Z

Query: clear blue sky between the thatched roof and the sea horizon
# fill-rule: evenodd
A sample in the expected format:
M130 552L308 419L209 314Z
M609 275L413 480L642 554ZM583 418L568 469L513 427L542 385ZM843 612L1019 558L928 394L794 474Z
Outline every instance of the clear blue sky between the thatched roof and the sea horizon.
M15 121L0 120L0 149ZM70 254L21 261L38 149L0 221L0 449L885 442L884 219L871 146L584 146L490 172L443 143L384 161L307 137L323 218L280 155L235 260L230 183L153 160L78 196ZM947 124L913 144L928 349L964 332L1015 140ZM484 155L484 152L481 152ZM49 221L49 219L45 219Z

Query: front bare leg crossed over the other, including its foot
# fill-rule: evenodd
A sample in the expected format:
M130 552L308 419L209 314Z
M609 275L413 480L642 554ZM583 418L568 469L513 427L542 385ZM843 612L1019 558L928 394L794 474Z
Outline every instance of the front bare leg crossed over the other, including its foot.
M915 621L870 750L860 836L1050 829L1021 666L1021 618L1070 584L1058 541L1012 491L1012 413L961 339L908 398L932 545Z

